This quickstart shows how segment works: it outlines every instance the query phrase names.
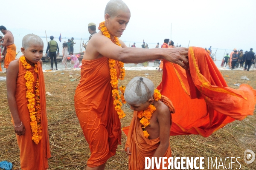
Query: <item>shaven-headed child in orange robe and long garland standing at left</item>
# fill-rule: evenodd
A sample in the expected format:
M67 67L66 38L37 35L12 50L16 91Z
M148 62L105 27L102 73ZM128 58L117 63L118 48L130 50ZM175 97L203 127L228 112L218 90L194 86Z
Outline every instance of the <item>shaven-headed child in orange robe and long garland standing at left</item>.
M34 34L23 37L23 56L9 64L7 99L20 149L22 170L46 170L50 158L42 56L44 42Z

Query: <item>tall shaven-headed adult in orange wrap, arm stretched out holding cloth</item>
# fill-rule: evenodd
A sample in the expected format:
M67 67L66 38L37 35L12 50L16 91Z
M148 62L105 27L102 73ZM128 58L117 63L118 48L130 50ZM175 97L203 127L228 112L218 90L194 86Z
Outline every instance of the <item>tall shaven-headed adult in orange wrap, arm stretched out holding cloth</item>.
M122 36L130 17L131 12L122 0L109 1L105 8L105 22L100 23L100 31L90 39L83 56L75 109L91 151L87 170L103 170L107 160L115 155L117 144L121 143L121 123L112 97L115 86L110 82L111 75L116 78L120 72L123 75L123 62L166 59L188 68L187 48L127 48L118 37ZM110 66L113 66L115 75Z

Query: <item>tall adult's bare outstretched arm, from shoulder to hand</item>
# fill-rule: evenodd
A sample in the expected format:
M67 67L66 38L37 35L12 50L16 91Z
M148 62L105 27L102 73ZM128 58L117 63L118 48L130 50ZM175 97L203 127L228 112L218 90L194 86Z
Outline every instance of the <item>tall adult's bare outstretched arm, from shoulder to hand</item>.
M125 63L141 63L154 59L166 59L188 69L188 59L186 59L188 48L126 48L127 46L119 40L122 45L121 48L103 35L95 35L90 41L92 42L89 45L96 47L96 53L111 59Z

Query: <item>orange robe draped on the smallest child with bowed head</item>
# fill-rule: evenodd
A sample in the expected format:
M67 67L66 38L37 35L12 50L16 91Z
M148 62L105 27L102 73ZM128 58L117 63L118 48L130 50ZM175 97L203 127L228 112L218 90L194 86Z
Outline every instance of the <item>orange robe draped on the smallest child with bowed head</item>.
M165 105L169 107L170 114L175 113L175 109L172 105L172 102L166 97L162 96L160 99ZM125 151L127 147L131 151L131 155L129 155L129 170L144 170L145 168L145 157L154 156L157 147L160 144L160 138L157 139L148 139L145 138L143 134L143 130L140 124L140 119L137 117L137 111L134 111L133 118L131 120L131 130L128 132L127 141L125 144ZM154 114L154 113L153 113ZM172 115L171 115L171 125L172 125ZM125 128L123 128L125 130ZM126 132L128 128L126 128ZM163 157L167 157L167 164L165 167L168 167L168 158L172 156L172 150L169 146L166 150L166 153ZM162 170L162 161L160 162L160 170ZM155 164L154 164L154 168Z

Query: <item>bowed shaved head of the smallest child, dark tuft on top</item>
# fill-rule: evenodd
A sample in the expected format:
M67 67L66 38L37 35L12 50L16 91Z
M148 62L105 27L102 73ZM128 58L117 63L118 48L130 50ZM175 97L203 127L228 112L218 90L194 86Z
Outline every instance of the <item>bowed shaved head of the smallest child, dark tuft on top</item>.
M132 104L142 104L154 95L154 84L145 77L134 77L125 88L125 101Z

